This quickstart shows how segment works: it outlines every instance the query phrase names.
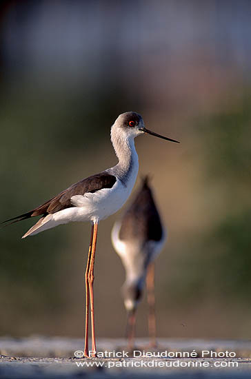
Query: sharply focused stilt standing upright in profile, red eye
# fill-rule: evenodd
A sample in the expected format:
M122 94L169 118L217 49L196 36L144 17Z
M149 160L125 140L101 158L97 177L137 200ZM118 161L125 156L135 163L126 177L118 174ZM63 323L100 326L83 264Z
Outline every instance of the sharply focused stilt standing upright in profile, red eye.
M72 221L89 221L92 225L90 245L85 272L86 284L86 322L83 357L97 356L94 327L94 259L97 246L99 221L117 212L128 199L139 170L138 155L134 138L141 134L151 134L167 141L179 141L161 136L145 128L142 116L137 112L124 112L114 121L110 138L118 163L99 174L88 176L70 185L57 196L50 198L30 212L3 221L10 225L19 221L41 216L22 238L34 236L44 230ZM89 314L92 333L92 349L88 349Z

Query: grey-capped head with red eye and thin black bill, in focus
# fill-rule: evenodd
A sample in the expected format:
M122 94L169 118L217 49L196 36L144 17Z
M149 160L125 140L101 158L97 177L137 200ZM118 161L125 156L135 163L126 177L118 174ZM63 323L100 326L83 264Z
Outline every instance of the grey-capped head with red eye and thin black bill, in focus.
M134 138L141 134L147 133L167 141L179 143L179 141L161 136L161 134L157 134L146 129L141 115L137 112L125 112L120 114L113 127L117 129L117 132L123 133L128 137L132 136Z

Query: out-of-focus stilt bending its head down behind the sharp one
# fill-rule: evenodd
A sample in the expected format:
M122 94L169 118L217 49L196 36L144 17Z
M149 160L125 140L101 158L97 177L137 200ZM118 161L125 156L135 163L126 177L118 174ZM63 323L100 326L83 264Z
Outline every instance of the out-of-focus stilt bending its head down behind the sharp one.
M154 259L165 243L166 232L154 201L149 176L141 180L134 200L112 228L112 245L125 268L122 287L128 312L126 334L128 349L134 345L137 307L146 285L148 298L148 333L150 346L156 347L156 318L154 297Z

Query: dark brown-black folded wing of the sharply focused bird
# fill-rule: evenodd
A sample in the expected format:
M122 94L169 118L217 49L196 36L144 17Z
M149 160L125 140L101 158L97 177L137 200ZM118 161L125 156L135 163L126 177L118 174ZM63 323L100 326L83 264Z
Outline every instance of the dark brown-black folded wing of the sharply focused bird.
M61 211L62 209L74 207L70 198L74 195L84 195L87 192L97 192L102 188L112 188L116 182L116 177L108 174L107 172L101 172L101 174L92 175L88 178L72 184L70 187L60 192L57 196L54 196L46 203L39 205L39 207L32 209L32 211L21 214L20 216L10 218L3 221L3 223L17 223L17 221L26 220L26 218L34 216L46 216L47 214L53 214ZM12 223L10 223L12 221ZM3 224L1 223L1 224Z

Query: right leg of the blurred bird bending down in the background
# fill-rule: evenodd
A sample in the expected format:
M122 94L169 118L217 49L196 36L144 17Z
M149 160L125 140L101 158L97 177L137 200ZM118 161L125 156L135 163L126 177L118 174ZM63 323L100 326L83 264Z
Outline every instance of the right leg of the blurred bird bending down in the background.
M150 263L146 276L146 288L148 297L148 332L150 337L150 346L156 347L156 316L155 316L155 296L154 296L154 263Z

